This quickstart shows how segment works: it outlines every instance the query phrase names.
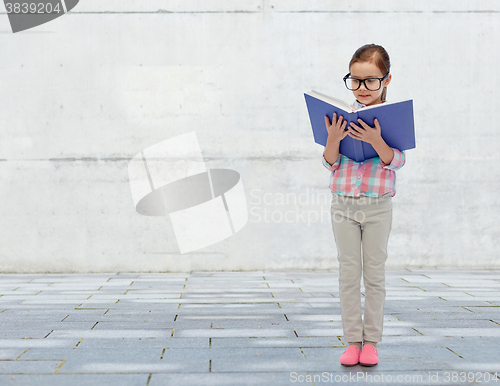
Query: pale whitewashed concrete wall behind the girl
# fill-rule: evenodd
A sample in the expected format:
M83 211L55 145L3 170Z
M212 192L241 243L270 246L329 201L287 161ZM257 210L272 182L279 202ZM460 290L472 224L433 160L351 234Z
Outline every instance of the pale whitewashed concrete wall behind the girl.
M342 77L372 42L418 146L387 267L500 267L498 1L81 0L16 34L3 13L0 32L3 272L336 269L303 92L351 101ZM127 164L193 130L208 168L241 174L249 222L182 255L168 217L135 212Z

